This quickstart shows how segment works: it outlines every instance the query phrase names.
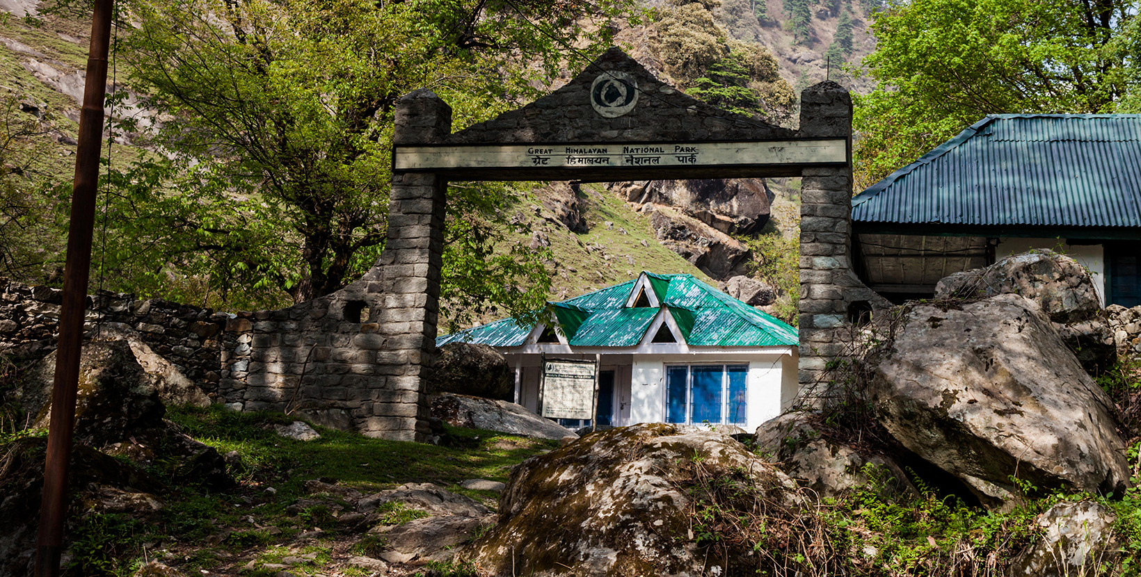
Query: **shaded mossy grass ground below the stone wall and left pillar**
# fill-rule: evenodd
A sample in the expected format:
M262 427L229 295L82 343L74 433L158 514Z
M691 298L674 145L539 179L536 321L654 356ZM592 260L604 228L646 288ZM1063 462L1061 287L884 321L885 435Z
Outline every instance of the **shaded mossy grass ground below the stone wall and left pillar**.
M369 439L323 428L317 428L321 439L297 441L273 429L293 421L290 416L233 413L217 405L171 409L168 418L222 454L238 452L242 465L232 469L238 485L221 493L170 485L160 495L162 510L149 515L73 515L79 520L68 529L74 539L68 575L130 575L146 561L159 560L187 575L259 576L281 570L262 566L284 558L294 558L289 570L297 576L371 575L345 563L353 555L375 553L378 543L362 543L369 538L363 533L367 528L342 527L334 507L286 511L306 495L305 481L337 480L364 495L406 482L432 482L495 509L497 494L464 489L459 482L474 478L505 481L511 466L557 446L454 428L447 430L452 446ZM0 439L0 454L16 437ZM159 472L161 464L152 469ZM382 509L387 509L382 511L386 523L423 517L403 506Z

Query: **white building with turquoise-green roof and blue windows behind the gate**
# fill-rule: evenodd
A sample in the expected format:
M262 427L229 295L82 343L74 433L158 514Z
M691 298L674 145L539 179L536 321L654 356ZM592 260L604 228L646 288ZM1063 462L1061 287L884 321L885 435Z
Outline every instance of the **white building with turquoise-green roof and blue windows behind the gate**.
M515 367L516 403L536 413L541 359L600 355L599 425L707 423L752 431L796 396L796 328L690 275L642 273L550 304L537 323L496 320L436 344L494 347Z

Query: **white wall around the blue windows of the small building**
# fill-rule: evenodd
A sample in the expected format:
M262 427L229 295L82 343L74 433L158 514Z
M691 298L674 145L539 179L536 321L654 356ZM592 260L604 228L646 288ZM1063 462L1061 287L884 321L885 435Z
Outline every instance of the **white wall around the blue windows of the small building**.
M756 429L779 415L795 396L796 359L787 353L637 355L631 372L631 411L626 424L665 422L665 365L743 363L748 364L748 424L745 430Z

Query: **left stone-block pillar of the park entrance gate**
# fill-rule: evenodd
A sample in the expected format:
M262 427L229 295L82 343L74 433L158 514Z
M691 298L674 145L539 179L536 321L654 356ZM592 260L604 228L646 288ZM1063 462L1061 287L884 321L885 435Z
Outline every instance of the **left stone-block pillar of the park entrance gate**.
M395 144L439 143L451 131L452 108L431 91L397 100ZM371 437L420 441L429 432L424 381L436 347L446 190L447 181L436 173L393 174L388 239L378 261L382 274L379 286L370 283L370 292L382 294L377 323L383 347L377 365L389 374L363 426ZM400 401L408 392L416 395L415 405Z

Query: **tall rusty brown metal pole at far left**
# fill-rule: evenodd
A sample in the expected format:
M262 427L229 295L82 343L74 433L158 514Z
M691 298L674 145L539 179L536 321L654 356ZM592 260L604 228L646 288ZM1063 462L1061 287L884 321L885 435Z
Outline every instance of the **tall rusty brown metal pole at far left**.
M64 519L67 514L67 465L75 430L75 391L79 356L83 344L83 314L91 267L91 231L99 182L99 151L103 147L103 103L107 91L107 51L111 43L111 10L114 0L95 0L91 46L87 59L83 109L79 117L79 149L72 181L72 213L67 228L67 262L64 266L63 308L59 312L59 346L51 389L51 425L43 466L43 501L40 505L40 536L35 551L35 577L59 575Z

